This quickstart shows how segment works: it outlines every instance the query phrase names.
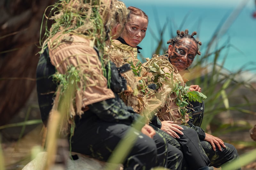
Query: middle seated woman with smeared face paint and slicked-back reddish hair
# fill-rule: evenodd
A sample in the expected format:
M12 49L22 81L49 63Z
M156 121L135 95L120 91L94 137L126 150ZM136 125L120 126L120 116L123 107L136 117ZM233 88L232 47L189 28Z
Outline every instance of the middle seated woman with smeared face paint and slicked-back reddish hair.
M111 46L113 47L112 50L121 52L121 55L119 55L119 57L117 56L115 58L112 58L112 61L118 67L122 66L125 63L129 63L132 65L132 68L136 70L141 66L141 63L137 58L137 53L139 52L138 49L142 48L140 48L138 45L146 35L148 27L148 17L143 11L138 8L128 7L128 9L130 10L130 13L128 14L127 23L125 25L124 31L121 33L120 37L116 40L113 40L111 44ZM140 70L138 72L140 72L140 76L145 76L143 75L145 71ZM145 94L140 93L141 91L139 86L141 86L141 84L133 83L136 81L138 82L138 80L135 78L136 76L134 76L132 71L127 71L122 75L126 78L127 86L130 88L127 88L126 91L121 92L119 94L120 97L124 100L125 104L131 106L138 114L143 115L144 108L150 108L150 104L148 105L148 103L150 102L147 102L149 100L145 99L147 97ZM140 79L140 82L142 81L142 79ZM137 93L137 90L139 91L139 93ZM153 90L147 88L145 91L148 92L148 94L151 94ZM157 99L155 101L157 101ZM177 152L176 149L179 148L183 152L184 156L182 169L186 169L186 166L191 170L209 169L208 164L210 163L210 161L205 154L203 148L200 146L200 141L197 137L195 130L186 126L173 123L172 128L176 129L176 131L178 132L176 133L174 130L169 130L168 134L160 129L161 122L157 120L154 115L152 116L152 119L149 120L149 122L156 122L157 127L154 126L152 123L149 124L156 130L156 133L163 135L169 143L167 166L168 168L177 169L177 167L179 167L179 164L181 164L181 161L175 160L176 156L174 156L175 152ZM175 146L176 148L174 148L173 146Z

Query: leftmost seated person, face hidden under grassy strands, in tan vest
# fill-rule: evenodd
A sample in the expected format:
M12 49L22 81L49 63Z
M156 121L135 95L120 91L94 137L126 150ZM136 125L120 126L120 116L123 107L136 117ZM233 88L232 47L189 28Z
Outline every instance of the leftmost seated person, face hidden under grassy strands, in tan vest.
M108 88L116 74L112 67L105 67L110 62L104 48L125 25L128 11L124 3L62 0L52 10L56 15L49 18L55 23L45 34L36 70L44 125L51 123L57 111L63 116L60 132L69 138L72 152L108 161L116 145L125 139L132 144L130 152L124 160L111 163L122 163L127 170L165 167L165 139Z

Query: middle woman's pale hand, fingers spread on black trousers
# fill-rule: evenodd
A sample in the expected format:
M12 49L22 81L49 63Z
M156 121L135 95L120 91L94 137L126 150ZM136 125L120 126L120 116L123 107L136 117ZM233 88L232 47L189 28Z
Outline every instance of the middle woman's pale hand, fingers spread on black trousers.
M183 135L183 132L180 131L180 130L183 130L183 128L181 126L173 123L172 121L162 121L161 130L165 131L172 137L178 138L178 139L180 139L180 137L177 133L179 133L180 135Z

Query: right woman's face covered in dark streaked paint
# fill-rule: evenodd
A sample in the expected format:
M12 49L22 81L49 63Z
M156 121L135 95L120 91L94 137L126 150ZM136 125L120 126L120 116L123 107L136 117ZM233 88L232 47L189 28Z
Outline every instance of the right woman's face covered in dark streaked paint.
M192 64L197 51L197 43L194 40L182 38L171 47L171 50L169 47L170 61L179 71L183 71Z

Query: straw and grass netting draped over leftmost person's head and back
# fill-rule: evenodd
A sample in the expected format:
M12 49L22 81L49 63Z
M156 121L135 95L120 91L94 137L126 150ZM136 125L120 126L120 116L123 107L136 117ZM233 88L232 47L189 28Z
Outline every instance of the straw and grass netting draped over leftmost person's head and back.
M65 44L74 44L72 40L74 35L84 36L83 39L90 40L90 42L93 40L92 44L84 45L90 47L90 50L96 46L99 51L98 56L95 50L93 52L71 52L69 50L70 54L63 55L64 58L59 58L58 63L55 63L56 69L59 70L54 78L60 85L56 91L52 110L58 110L62 116L65 116L61 131L68 132L69 125L71 124L71 129L74 125L74 115L83 114L82 107L83 110L84 107L85 109L87 107L86 95L83 94L83 91L86 91L85 88L100 86L101 83L104 83L102 81L104 77L101 75L107 77L104 64L108 62L108 57L106 57L106 61L103 60L103 56L107 56L104 53L104 47L111 35L111 27L117 23L124 25L128 11L124 3L117 0L108 2L102 0L60 0L47 8L51 10L49 14L44 13L46 32L40 40L43 42L40 53L44 51L47 45L51 48L50 54L51 51ZM54 20L50 29L47 27L49 20ZM71 39L63 37L71 37ZM73 48L76 49L76 46ZM92 57L95 61L97 60L98 64L90 63ZM88 59L86 60L87 63L84 63L84 61L80 61L81 58L84 60L90 58L90 60ZM92 67L101 70L101 72L93 71ZM63 68L66 69L61 71ZM60 103L64 103L64 105Z

